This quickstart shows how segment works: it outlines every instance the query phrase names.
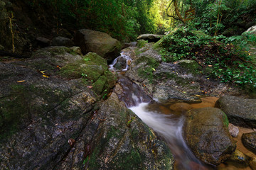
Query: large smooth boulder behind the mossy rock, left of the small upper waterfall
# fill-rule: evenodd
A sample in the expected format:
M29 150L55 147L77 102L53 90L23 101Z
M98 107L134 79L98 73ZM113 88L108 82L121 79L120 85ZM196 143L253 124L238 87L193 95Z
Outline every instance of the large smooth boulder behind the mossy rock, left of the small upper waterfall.
M118 40L107 33L95 30L78 30L74 41L84 54L96 52L97 55L105 58L107 62L112 62L115 57L118 57L121 50L121 43Z

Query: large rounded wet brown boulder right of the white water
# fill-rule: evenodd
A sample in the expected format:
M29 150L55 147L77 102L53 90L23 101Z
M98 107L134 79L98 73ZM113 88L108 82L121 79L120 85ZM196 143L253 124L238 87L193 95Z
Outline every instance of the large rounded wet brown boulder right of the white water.
M228 132L228 118L218 108L195 108L186 113L185 140L193 153L206 162L218 165L235 151Z

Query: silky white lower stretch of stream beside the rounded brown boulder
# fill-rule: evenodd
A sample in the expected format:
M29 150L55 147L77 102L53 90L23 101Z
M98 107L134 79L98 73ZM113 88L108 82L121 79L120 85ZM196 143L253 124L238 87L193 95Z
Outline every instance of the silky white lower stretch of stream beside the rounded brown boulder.
M201 162L193 155L183 140L184 116L177 117L176 115L157 113L156 111L150 111L148 106L149 103L139 103L129 109L136 113L146 125L152 128L169 145L175 157L176 169L195 169L191 166L191 162L200 165ZM197 166L196 169L200 169L200 166Z

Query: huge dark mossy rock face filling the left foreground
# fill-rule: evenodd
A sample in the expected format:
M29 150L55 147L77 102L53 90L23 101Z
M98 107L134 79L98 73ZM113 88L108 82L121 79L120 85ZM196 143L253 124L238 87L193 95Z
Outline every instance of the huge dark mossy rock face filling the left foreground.
M172 169L169 147L120 103L107 61L47 47L0 62L0 169Z

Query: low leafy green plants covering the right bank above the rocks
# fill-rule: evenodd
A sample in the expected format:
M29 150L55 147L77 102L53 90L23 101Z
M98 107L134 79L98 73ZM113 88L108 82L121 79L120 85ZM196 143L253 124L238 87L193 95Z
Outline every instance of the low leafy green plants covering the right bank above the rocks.
M180 28L163 38L161 55L165 62L196 60L203 68L211 68L208 76L252 89L256 87L256 71L248 43L255 41L255 35L250 34L210 37L191 28Z

